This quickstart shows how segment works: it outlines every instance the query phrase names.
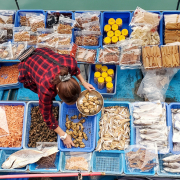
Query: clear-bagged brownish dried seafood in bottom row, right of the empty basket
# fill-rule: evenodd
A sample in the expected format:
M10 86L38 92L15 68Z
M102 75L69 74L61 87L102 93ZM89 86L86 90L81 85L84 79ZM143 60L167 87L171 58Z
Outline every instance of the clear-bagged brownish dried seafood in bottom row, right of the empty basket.
M137 148L134 148L137 149ZM156 154L148 149L139 148L126 153L126 164L130 169L139 169L141 171L149 171L156 166Z

